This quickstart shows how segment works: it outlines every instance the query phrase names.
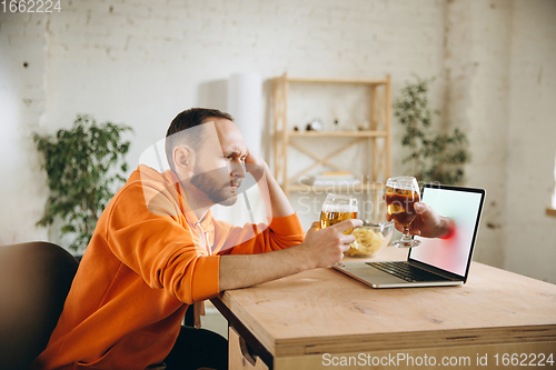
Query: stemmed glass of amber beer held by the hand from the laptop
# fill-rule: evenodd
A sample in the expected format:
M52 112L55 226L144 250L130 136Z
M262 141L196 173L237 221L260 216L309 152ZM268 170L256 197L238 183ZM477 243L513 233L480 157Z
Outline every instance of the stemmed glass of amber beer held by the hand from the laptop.
M389 178L386 181L385 200L388 214L394 221L404 227L404 236L400 240L395 241L393 246L398 248L419 246L420 241L409 237L409 226L417 216L414 204L420 200L417 179L414 177Z

